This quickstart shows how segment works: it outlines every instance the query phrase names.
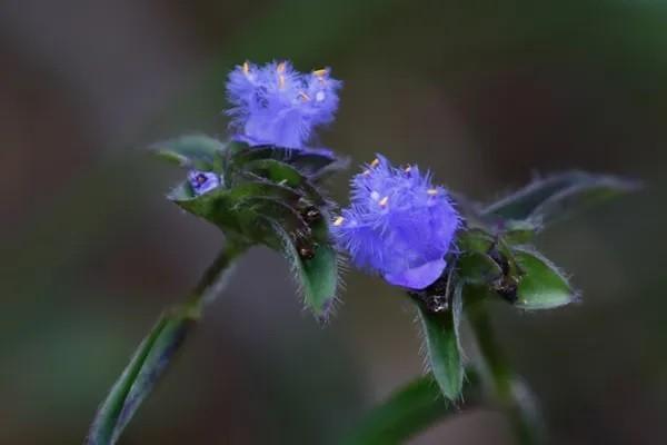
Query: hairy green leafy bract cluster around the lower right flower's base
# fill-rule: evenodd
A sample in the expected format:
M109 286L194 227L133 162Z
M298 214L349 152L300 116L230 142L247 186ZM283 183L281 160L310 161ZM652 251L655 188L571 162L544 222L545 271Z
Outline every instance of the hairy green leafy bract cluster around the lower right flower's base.
M447 273L417 303L427 359L442 394L457 400L464 380L459 322L466 307L498 299L518 309L565 306L578 294L551 261L531 246L538 231L580 208L635 190L636 181L581 171L550 176L487 207L458 197L467 221Z

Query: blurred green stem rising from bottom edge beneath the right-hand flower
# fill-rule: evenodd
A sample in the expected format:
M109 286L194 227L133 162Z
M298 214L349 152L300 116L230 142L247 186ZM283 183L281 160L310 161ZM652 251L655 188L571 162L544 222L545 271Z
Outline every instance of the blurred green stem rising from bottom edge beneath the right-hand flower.
M528 388L509 367L494 330L485 301L476 301L468 309L472 332L481 355L480 375L506 411L517 443L535 445L544 442L539 415Z

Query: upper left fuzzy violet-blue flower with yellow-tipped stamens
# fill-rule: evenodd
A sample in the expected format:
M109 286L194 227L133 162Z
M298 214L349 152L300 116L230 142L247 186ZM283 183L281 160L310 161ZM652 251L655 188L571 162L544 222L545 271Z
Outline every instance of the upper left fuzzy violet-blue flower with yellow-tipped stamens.
M233 139L308 148L313 129L334 120L340 86L329 69L301 73L289 62L238 66L227 82Z

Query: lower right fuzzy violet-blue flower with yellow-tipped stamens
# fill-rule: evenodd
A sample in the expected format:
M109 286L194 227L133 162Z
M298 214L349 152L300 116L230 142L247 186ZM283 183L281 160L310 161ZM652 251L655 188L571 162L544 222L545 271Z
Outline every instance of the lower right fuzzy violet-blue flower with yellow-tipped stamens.
M382 156L351 187L351 206L332 228L355 265L411 289L438 279L460 224L445 188L434 187L417 166L394 168Z

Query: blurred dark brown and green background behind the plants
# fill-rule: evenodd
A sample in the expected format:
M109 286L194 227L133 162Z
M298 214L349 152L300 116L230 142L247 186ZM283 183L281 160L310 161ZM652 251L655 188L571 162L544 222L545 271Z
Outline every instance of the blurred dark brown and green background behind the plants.
M213 258L218 231L165 199L182 171L143 149L225 135L227 71L275 58L345 81L321 139L355 164L381 151L482 201L569 168L644 180L539 240L583 304L494 316L552 444L663 442L666 23L649 0L1 1L0 443L81 443ZM401 296L347 283L321 327L280 257L248 254L121 443L329 443L422 372ZM511 441L474 411L412 443Z

